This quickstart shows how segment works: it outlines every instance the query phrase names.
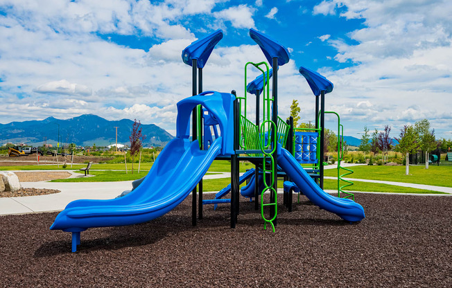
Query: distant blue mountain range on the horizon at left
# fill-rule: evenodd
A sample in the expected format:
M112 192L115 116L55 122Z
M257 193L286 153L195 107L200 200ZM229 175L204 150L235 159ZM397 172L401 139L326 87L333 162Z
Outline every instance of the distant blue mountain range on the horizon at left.
M58 125L60 125L60 143L76 143L76 145L106 146L116 142L118 127L118 143L130 145L129 136L133 121L123 119L109 121L93 114L85 114L67 120L53 117L44 120L31 120L0 124L1 143L26 143L42 145L45 141L55 145L58 142ZM146 135L144 146L164 145L174 137L166 130L154 124L141 124L142 134Z

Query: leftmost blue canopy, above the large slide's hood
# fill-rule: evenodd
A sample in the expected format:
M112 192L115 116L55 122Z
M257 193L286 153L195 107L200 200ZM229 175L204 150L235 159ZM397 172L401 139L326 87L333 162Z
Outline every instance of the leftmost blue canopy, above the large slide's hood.
M191 43L182 51L182 60L185 64L191 66L191 60L196 59L198 68L204 68L209 59L215 45L223 38L223 31L216 30L214 33L207 35L202 39L198 39Z

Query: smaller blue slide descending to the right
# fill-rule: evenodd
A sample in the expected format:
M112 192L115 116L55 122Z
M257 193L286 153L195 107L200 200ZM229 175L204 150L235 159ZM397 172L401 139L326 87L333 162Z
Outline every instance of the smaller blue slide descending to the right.
M363 206L351 199L334 197L324 192L304 171L290 152L282 147L278 147L278 150L280 150L278 151L278 165L313 204L331 213L336 213L339 217L349 222L358 222L364 219Z

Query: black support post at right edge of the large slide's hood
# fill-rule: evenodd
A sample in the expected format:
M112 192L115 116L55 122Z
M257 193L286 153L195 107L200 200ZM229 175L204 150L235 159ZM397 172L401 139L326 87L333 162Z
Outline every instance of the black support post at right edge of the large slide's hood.
M236 91L232 90L232 94L236 95ZM238 100L234 100L234 154L231 155L231 228L236 228L238 214L238 158L235 152L238 150L238 129L240 123L238 117Z

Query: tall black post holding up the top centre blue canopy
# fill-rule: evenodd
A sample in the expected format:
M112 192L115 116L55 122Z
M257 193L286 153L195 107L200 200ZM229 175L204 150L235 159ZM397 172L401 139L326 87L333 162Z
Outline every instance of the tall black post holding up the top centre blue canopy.
M273 69L273 85L272 85L272 96L273 96L273 115L272 115L272 121L275 123L276 127L278 127L278 57L273 57L273 63L272 63L272 69ZM277 129L276 129L277 130ZM277 131L273 131L272 134L276 134ZM273 139L273 137L272 137ZM277 145L277 143L273 143L273 145ZM278 152L277 149L275 149L275 153L273 153L273 171L275 171L275 183L273 184L273 188L275 188L275 191L278 190ZM265 177L265 175L264 175ZM275 192L271 192L270 194L270 203L275 203L276 195ZM275 216L276 210L275 206L270 206L270 219ZM273 221L273 224L276 226L277 219Z

